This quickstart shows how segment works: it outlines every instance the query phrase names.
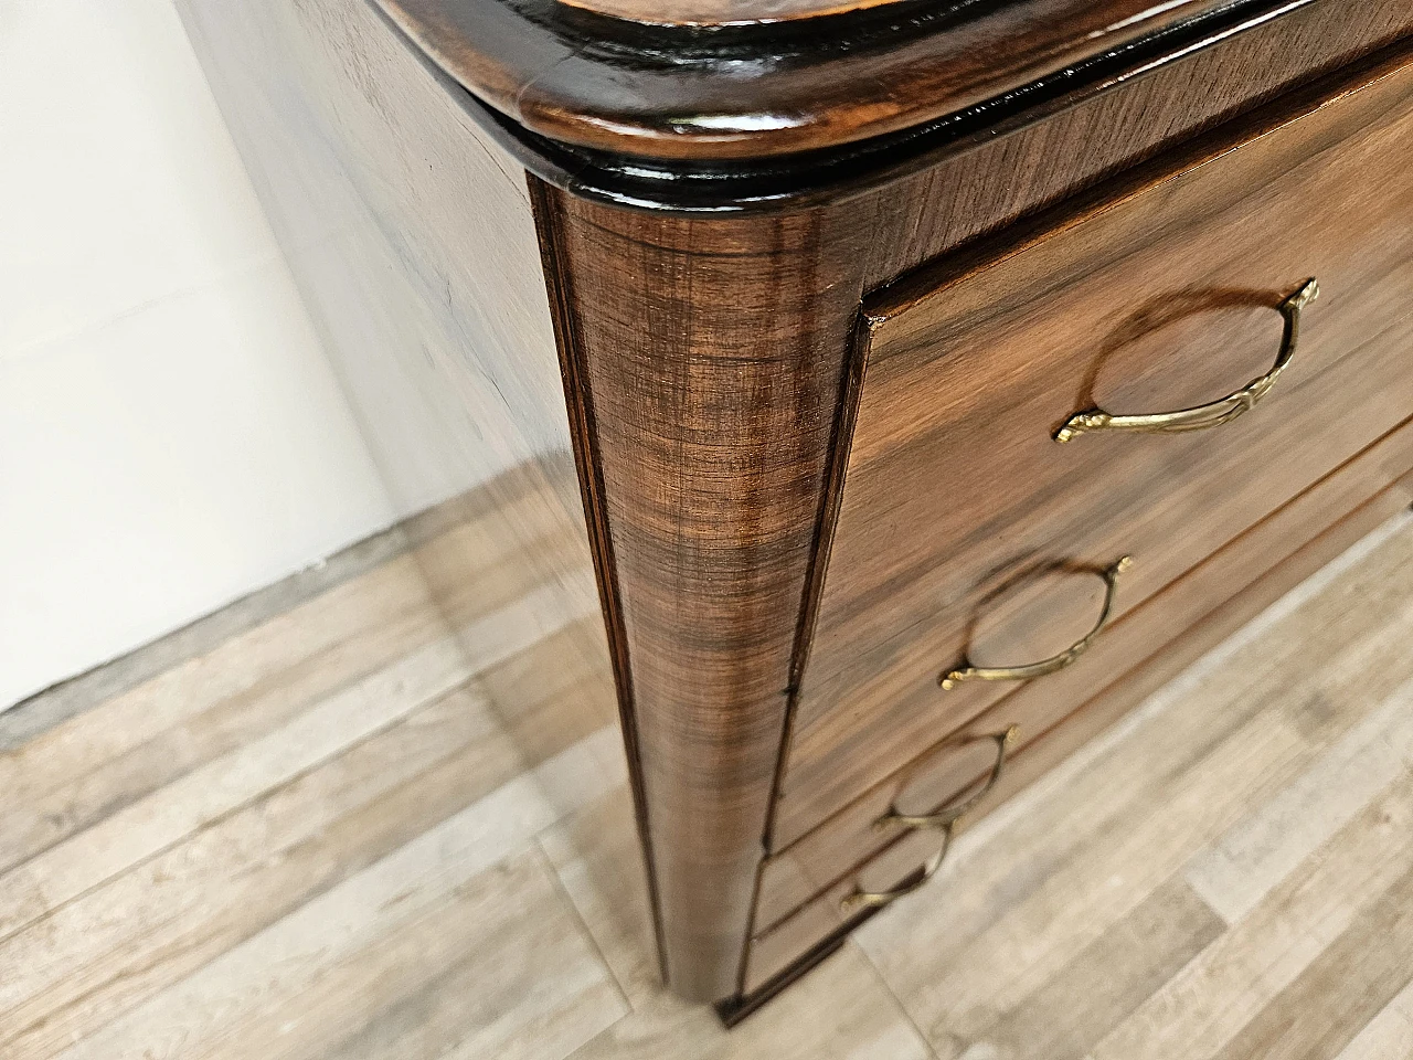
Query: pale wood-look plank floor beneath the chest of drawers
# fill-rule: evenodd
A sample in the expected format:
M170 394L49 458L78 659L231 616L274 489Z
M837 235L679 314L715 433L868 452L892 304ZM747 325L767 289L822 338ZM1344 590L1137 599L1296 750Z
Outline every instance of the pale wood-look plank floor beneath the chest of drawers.
M657 984L595 616L420 570L0 715L0 1057L1413 1057L1413 517L732 1032Z

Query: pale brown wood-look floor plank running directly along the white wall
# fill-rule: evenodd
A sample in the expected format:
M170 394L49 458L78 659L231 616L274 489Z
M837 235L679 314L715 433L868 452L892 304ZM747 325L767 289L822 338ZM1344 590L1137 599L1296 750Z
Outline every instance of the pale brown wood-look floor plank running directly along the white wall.
M0 752L0 871L444 635L398 558Z

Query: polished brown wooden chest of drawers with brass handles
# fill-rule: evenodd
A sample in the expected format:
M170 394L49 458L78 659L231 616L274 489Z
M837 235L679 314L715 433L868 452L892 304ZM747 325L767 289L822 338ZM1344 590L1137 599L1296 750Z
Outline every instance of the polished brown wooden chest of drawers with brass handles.
M404 505L602 613L726 1019L1413 500L1407 4L182 8Z

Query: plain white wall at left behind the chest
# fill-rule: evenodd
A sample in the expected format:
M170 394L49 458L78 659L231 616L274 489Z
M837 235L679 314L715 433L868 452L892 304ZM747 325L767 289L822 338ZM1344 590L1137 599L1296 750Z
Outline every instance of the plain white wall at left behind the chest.
M0 3L0 709L393 510L170 0Z

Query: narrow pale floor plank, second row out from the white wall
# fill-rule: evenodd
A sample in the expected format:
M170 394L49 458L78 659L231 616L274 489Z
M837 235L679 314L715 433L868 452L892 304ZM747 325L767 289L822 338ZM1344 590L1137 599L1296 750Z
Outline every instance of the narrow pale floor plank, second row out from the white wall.
M0 876L0 940L468 680L435 640ZM3 996L3 995L0 995ZM0 1002L3 1003L3 1002Z

